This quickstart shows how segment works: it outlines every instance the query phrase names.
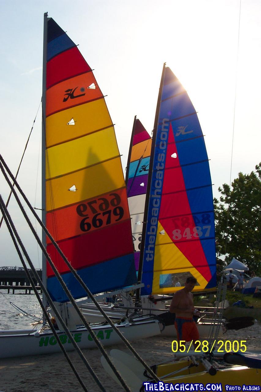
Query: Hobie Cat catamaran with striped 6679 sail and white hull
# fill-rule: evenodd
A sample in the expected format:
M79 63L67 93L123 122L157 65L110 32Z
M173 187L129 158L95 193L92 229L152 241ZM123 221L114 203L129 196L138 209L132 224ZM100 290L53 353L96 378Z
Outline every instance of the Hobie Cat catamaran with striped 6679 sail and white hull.
M90 329L75 304L67 311L69 300L133 285L137 277L125 180L104 96L77 45L47 13L42 105L43 302L58 329L2 331L0 358L57 352L61 343L66 350L75 342L94 347L95 337L111 345L121 341L118 330L130 340L159 334L155 318L126 318L116 329L109 320Z

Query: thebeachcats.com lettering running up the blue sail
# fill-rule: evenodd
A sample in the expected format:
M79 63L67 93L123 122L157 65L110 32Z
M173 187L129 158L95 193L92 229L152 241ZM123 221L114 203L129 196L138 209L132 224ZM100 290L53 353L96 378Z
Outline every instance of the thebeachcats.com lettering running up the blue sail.
M167 152L167 140L169 136L169 119L163 118L161 129L157 133L154 167L151 181L151 194L149 203L149 214L147 223L147 233L145 242L145 260L152 261L154 258L154 249L156 233L158 228L158 216L160 200L163 186L164 169Z

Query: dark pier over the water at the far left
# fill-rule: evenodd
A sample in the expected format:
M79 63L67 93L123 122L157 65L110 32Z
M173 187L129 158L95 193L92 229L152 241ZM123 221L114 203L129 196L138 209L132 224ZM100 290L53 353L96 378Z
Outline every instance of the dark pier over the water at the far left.
M42 270L37 270L38 279L33 277L31 270L29 270L29 273L36 289L42 293L39 286L39 281L42 280ZM25 290L25 294L34 293L23 267L0 267L0 290L7 290L8 294L10 292L14 294L16 290Z

